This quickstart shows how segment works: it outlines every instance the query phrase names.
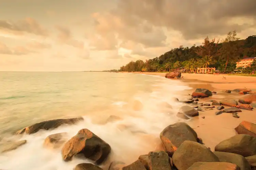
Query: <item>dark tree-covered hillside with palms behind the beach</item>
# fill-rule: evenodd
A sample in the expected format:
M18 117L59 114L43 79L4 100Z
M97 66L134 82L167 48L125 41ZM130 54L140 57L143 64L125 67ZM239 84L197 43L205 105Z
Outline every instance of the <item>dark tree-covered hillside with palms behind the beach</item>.
M256 57L256 35L240 39L236 31L232 31L225 40L207 36L201 46L180 46L145 62L130 61L119 70L112 71L169 72L183 67L186 72L193 73L197 68L215 67L222 73L230 73L236 69L236 62L245 57ZM255 68L255 62L252 66L246 69L247 72Z

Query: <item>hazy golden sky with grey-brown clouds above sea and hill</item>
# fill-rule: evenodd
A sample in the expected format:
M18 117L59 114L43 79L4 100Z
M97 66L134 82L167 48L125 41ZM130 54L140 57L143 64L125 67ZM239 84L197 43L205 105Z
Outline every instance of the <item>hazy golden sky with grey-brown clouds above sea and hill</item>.
M119 69L206 36L256 35L256 0L0 0L0 71Z

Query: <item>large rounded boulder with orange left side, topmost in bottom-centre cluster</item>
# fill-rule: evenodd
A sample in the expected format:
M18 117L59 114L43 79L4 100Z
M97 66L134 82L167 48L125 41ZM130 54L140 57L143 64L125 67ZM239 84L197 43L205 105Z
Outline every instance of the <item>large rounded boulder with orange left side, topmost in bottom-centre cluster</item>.
M197 133L185 122L177 122L167 126L161 133L160 139L165 151L171 156L185 140L197 142Z

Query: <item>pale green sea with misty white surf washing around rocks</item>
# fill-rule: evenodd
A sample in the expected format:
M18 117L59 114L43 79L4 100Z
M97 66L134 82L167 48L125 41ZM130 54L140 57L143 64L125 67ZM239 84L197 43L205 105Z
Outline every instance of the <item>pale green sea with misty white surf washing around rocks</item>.
M139 155L157 149L159 134L182 103L183 82L158 76L108 72L0 72L0 142L23 140L16 150L0 153L2 170L72 170L76 158L64 162L61 148L48 149L44 139L67 132L71 138L87 128L111 146L109 160L130 164ZM117 121L107 121L109 116ZM84 121L50 131L15 136L15 131L33 123L82 116Z

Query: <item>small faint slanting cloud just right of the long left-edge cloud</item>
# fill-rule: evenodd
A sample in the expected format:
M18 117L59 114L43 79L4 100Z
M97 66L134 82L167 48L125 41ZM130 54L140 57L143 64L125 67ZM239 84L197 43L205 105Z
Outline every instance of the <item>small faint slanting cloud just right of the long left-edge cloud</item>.
M59 42L79 49L84 48L84 42L74 39L70 29L62 26L56 26L56 29L59 31L57 37Z

